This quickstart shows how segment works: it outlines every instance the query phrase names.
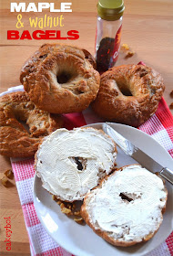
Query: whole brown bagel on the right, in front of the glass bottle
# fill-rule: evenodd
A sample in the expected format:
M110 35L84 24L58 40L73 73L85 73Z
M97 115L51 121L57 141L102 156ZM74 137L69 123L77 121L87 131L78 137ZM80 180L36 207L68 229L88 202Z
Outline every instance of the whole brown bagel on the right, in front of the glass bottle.
M139 126L157 111L165 86L157 71L143 65L122 65L101 76L92 108L107 121Z

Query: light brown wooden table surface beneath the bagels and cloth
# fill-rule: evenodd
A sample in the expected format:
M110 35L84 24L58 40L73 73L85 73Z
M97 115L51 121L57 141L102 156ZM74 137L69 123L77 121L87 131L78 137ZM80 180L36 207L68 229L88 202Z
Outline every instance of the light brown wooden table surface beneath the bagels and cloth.
M7 40L6 31L13 30L16 24L16 13L10 13L9 0L1 1L1 87L0 92L7 88L20 84L20 68L41 44L51 42L49 40ZM24 1L18 1L24 2ZM25 1L29 3L28 1ZM35 1L35 3L41 1ZM53 2L53 1L46 1ZM63 2L63 1L61 1ZM56 27L66 35L66 31L76 29L79 31L79 39L74 41L61 40L61 43L70 43L86 48L94 54L96 22L97 22L97 0L71 0L73 13L64 14L64 27ZM137 63L143 60L148 66L157 69L163 76L166 85L164 98L168 105L173 102L169 95L173 90L173 1L172 0L126 0L126 12L123 20L122 43L127 43L136 54L124 59L121 54L118 64ZM19 29L33 29L28 26L29 16L44 16L42 14L23 13L25 27ZM48 15L48 14L47 14ZM53 16L56 16L53 14ZM49 29L49 28L47 28ZM45 29L43 29L45 30ZM55 41L52 41L53 43ZM9 168L10 160L0 156L0 178L5 170ZM29 241L25 230L23 212L19 202L15 180L11 187L0 185L0 252L1 255L30 255ZM5 249L5 217L11 217L12 225L12 251Z

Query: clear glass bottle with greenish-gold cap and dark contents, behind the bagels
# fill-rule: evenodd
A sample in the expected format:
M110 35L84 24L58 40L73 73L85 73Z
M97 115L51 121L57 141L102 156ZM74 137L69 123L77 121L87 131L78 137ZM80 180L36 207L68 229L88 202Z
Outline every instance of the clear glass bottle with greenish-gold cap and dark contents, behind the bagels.
M117 61L124 9L123 0L98 1L95 57L100 73L112 68Z

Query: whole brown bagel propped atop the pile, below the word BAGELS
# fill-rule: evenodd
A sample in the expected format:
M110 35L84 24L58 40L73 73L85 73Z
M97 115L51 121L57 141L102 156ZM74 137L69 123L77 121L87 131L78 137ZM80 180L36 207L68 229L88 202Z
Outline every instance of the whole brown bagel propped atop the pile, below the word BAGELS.
M97 97L99 73L85 49L46 44L25 62L20 80L31 101L46 112L82 112Z

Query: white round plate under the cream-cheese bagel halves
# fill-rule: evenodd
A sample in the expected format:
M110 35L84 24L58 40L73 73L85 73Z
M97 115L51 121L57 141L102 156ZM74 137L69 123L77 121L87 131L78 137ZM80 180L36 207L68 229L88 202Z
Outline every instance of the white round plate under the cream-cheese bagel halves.
M101 129L101 123L89 124ZM172 168L173 160L168 155L168 152L152 139L148 134L143 133L135 128L123 124L112 123L114 129L118 133L126 136L133 144L137 145L143 151L148 152L150 156L155 157L159 164L167 165ZM130 165L136 163L130 157L122 153L118 149L117 165ZM49 235L56 240L56 242L76 256L120 256L120 255L144 255L152 251L158 245L168 238L168 235L173 229L173 195L172 186L166 183L168 188L168 205L166 213L164 214L163 222L158 229L157 234L148 242L137 244L128 248L114 247L101 239L94 233L87 225L81 226L76 224L73 219L69 219L60 211L60 207L52 200L51 195L42 187L41 180L35 176L34 182L34 203L36 213L41 223L49 233Z

